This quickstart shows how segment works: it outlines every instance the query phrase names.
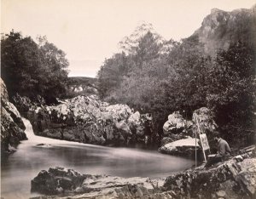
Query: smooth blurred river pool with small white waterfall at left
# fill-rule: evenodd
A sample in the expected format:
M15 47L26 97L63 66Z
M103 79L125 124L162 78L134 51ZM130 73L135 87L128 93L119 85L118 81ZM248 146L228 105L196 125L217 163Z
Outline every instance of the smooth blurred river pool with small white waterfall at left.
M1 163L1 194L4 199L29 198L31 180L41 170L60 166L80 173L120 177L166 177L193 165L189 159L157 151L87 145L33 134L31 123L23 119L28 140ZM44 145L38 145L44 144Z

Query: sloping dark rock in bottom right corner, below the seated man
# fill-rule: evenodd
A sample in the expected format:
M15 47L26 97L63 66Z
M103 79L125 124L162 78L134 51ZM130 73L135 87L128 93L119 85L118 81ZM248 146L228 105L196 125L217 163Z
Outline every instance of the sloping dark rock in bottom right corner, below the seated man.
M256 158L235 158L210 169L176 173L164 187L180 198L255 198Z

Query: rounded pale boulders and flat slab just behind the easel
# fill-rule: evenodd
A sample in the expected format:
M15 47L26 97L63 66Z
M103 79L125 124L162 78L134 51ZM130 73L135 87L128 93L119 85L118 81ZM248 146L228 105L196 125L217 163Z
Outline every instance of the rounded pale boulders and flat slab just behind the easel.
M215 145L212 141L212 135L217 127L218 125L213 120L212 111L206 107L195 110L191 121L183 119L183 116L178 111L173 112L164 124L164 138L161 141L159 151L172 155L190 156L195 151L195 141L191 137L195 138L195 134L197 134L197 138L199 138L200 131L201 134L207 134L210 145ZM186 143L184 145L183 140ZM188 143L190 144L187 145Z

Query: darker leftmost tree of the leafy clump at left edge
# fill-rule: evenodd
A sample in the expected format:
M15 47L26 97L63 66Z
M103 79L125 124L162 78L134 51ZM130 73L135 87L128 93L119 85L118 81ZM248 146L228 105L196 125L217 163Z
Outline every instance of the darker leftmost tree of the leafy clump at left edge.
M19 32L11 31L1 40L1 52L1 77L9 94L33 94L34 86L39 83L40 52L37 43L31 37L23 38Z

